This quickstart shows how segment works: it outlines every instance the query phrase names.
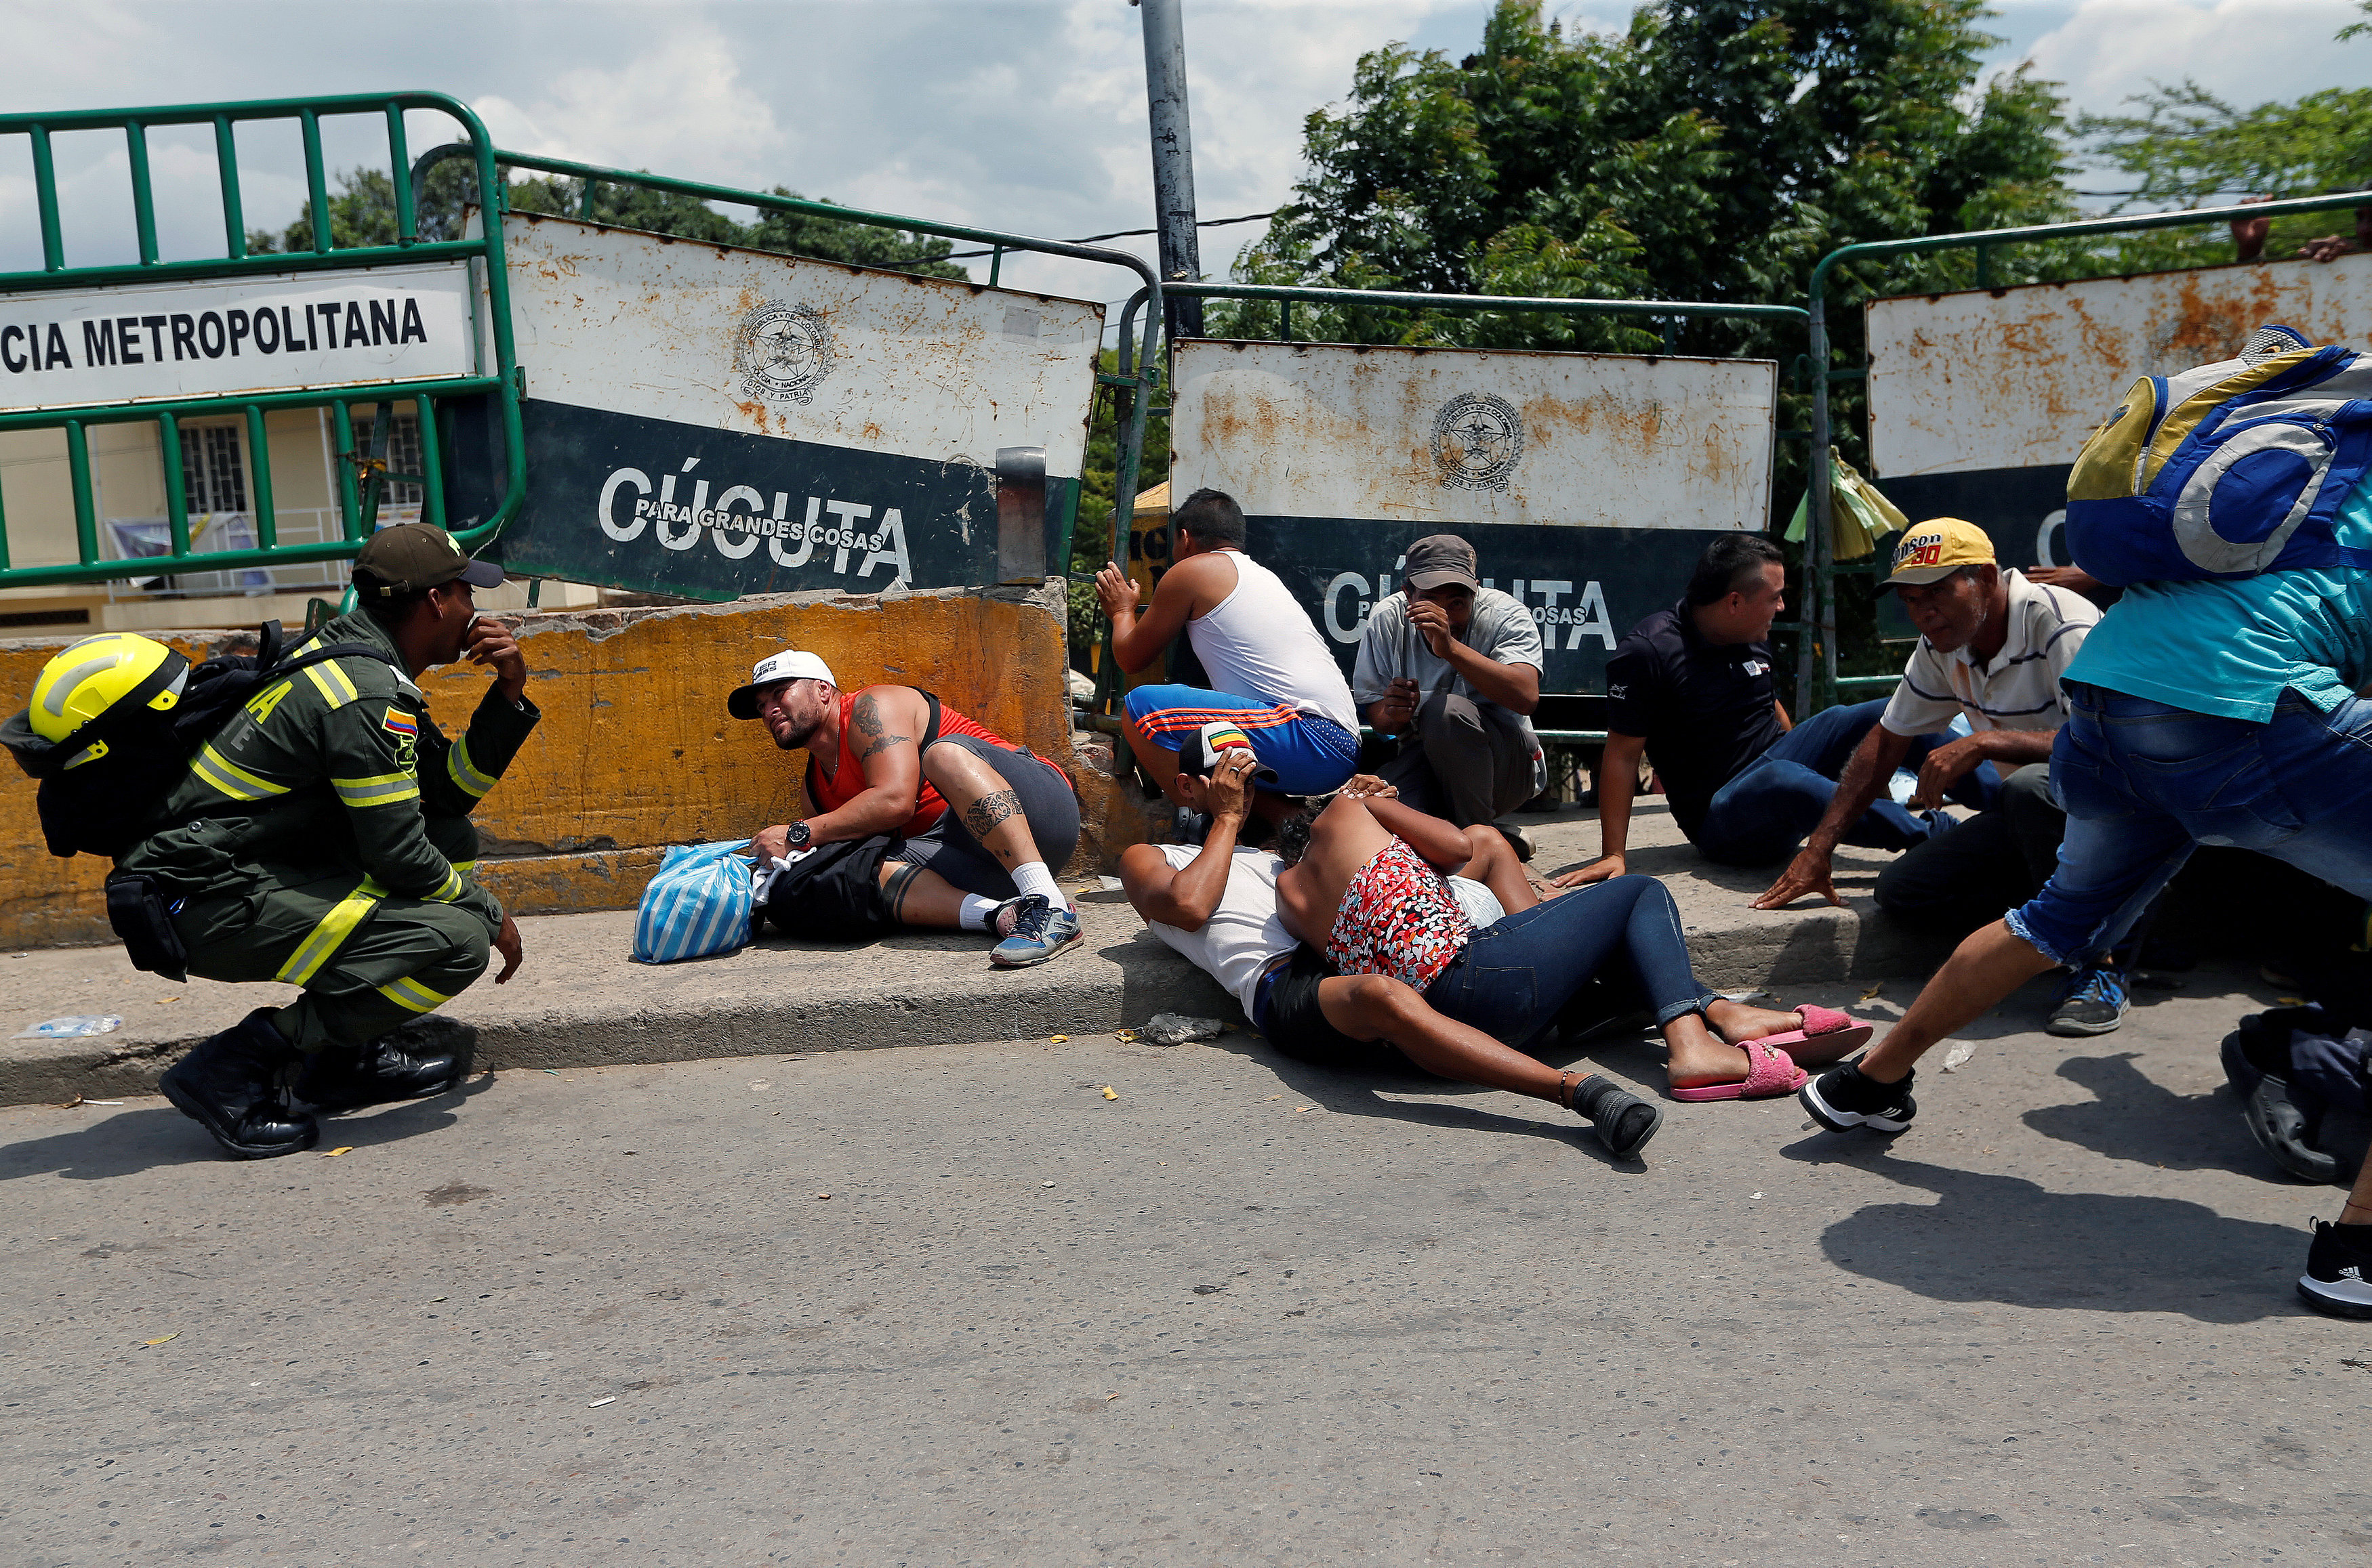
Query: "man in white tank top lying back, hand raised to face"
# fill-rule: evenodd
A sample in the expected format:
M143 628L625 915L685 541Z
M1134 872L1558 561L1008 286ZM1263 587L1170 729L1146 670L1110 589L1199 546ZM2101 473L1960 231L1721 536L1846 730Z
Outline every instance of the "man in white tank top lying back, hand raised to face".
M1566 1105L1615 1153L1634 1155L1646 1146L1660 1122L1646 1101L1601 1077L1558 1072L1442 1018L1390 975L1338 975L1302 946L1276 913L1283 863L1267 849L1236 847L1260 761L1243 745L1203 747L1203 735L1186 742L1179 788L1188 807L1210 814L1210 835L1203 844L1129 844L1120 854L1120 885L1153 935L1233 992L1271 1046L1319 1067L1390 1067L1390 1048L1397 1048L1435 1077ZM1345 790L1390 785L1352 778ZM1492 897L1516 897L1516 887L1525 887L1497 830L1473 828L1468 842L1475 854L1461 866L1473 878L1461 890L1466 897L1482 878Z

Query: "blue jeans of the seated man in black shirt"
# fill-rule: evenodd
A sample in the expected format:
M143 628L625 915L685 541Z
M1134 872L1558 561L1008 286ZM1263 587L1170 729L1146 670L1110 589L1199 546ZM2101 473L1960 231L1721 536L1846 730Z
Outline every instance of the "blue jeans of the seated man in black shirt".
M1869 726L1886 712L1886 697L1831 707L1812 714L1779 740L1770 742L1746 771L1724 783L1705 807L1705 821L1696 826L1689 842L1708 861L1724 866L1770 866L1796 854L1796 844L1819 826L1836 797L1836 778L1845 771L1853 750L1862 745ZM1917 735L1902 766L1919 771L1928 752L1950 735ZM1881 780L1883 783L1883 780ZM1976 764L1957 785L1945 790L1945 799L1983 811L2002 788L2002 776L1990 761ZM1898 807L1890 797L1862 811L1862 818L1845 828L1845 842L1862 849L1912 849L1943 830L1936 823Z

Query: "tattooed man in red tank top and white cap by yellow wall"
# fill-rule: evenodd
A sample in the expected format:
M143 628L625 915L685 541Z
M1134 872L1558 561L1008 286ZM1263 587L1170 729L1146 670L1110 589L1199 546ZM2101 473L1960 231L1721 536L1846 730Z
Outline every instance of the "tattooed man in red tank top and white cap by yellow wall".
M882 894L901 925L989 930L996 968L1046 963L1082 939L1053 868L1079 844L1070 778L916 686L842 693L830 667L785 648L726 697L785 752L806 752L809 816L752 847L788 859L814 844L894 835Z

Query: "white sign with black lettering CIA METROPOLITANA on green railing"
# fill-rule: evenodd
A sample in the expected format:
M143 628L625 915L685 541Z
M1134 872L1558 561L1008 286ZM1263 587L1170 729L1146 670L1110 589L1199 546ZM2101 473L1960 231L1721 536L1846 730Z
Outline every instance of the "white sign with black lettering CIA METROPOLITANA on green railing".
M477 372L470 263L0 297L0 410Z

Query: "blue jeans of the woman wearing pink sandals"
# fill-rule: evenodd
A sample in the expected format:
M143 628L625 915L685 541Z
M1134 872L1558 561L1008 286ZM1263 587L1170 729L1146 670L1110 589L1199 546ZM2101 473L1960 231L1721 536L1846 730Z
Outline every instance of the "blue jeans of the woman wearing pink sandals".
M1606 980L1656 1008L1658 1025L1720 1001L1689 968L1670 890L1639 875L1577 887L1480 928L1426 987L1426 1001L1520 1048L1608 965Z

